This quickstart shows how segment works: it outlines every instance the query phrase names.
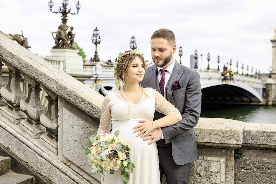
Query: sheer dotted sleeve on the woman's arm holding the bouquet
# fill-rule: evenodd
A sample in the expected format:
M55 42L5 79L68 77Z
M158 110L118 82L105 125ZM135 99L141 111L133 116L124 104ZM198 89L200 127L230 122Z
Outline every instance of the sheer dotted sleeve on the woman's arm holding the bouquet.
M109 133L111 130L111 110L109 107L109 102L110 101L107 94L104 101L102 102L101 120L97 131L97 136L105 135L105 133Z

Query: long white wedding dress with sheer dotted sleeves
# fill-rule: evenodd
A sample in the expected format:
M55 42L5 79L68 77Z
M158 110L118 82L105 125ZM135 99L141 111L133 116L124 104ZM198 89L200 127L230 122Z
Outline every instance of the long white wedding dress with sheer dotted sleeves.
M136 137L132 133L133 127L140 124L138 120L153 121L155 110L167 114L174 114L179 121L182 119L178 109L168 102L158 91L143 88L143 95L137 104L129 103L116 91L106 95L101 109L101 121L97 136L119 130L122 144L130 148L130 159L135 165L133 173L128 172L127 184L158 184L160 183L159 161L156 143L148 145L149 141ZM114 174L105 174L101 184L123 184L121 170Z

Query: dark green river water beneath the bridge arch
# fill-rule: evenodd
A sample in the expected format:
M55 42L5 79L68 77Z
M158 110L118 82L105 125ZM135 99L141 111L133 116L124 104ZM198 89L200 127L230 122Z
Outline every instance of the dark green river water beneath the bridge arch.
M276 106L202 104L200 117L216 117L247 123L276 124Z

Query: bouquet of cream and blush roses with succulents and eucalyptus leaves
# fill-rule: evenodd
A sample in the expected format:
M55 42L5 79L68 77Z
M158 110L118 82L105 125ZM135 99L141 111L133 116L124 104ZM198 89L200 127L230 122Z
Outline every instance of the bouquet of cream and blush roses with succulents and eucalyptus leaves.
M134 164L129 159L128 145L122 144L118 137L119 131L114 134L106 133L105 136L97 137L96 134L90 137L90 141L84 139L88 146L83 150L83 154L88 157L93 172L100 172L105 177L109 171L114 174L114 170L121 170L124 183L129 181L128 172L133 172Z

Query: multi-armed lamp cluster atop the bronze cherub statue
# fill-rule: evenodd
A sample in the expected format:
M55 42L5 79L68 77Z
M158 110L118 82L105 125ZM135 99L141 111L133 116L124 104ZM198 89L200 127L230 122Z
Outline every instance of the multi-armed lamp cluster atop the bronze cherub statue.
M67 29L67 25L66 25L66 23L67 23L67 20L68 20L68 17L67 17L67 15L68 14L71 14L71 15L76 15L76 14L78 14L79 13L79 9L80 9L80 4L79 4L79 1L78 1L78 3L76 4L76 9L77 9L77 13L71 13L71 8L69 8L68 9L68 11L67 11L67 5L69 4L69 1L68 0L63 0L63 2L62 2L62 6L60 6L59 7L59 9L58 9L58 11L52 11L52 7L54 6L54 2L52 2L52 0L50 0L49 2L48 2L48 5L49 5L49 7L50 7L50 11L52 12L52 13L61 13L61 20L62 20L62 23L63 23L63 27L65 28L65 29Z

